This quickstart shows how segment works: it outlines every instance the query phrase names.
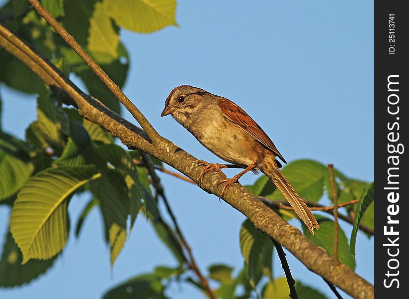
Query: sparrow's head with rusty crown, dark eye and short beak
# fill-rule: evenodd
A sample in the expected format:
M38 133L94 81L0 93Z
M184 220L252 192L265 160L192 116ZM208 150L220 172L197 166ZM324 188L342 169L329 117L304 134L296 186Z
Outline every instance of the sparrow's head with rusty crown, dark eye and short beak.
M165 101L161 116L171 114L178 122L189 119L202 106L202 99L208 92L201 88L181 85L174 88Z

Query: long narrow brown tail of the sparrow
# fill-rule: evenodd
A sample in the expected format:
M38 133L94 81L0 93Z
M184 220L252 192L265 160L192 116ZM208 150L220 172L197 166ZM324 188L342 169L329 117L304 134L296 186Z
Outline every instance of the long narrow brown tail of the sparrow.
M298 195L298 193L291 186L290 182L278 168L275 168L273 173L266 173L266 175L281 191L285 199L287 199L294 211L297 213L298 217L300 217L300 219L305 223L310 232L314 234L314 228L319 228L320 226L300 195Z

